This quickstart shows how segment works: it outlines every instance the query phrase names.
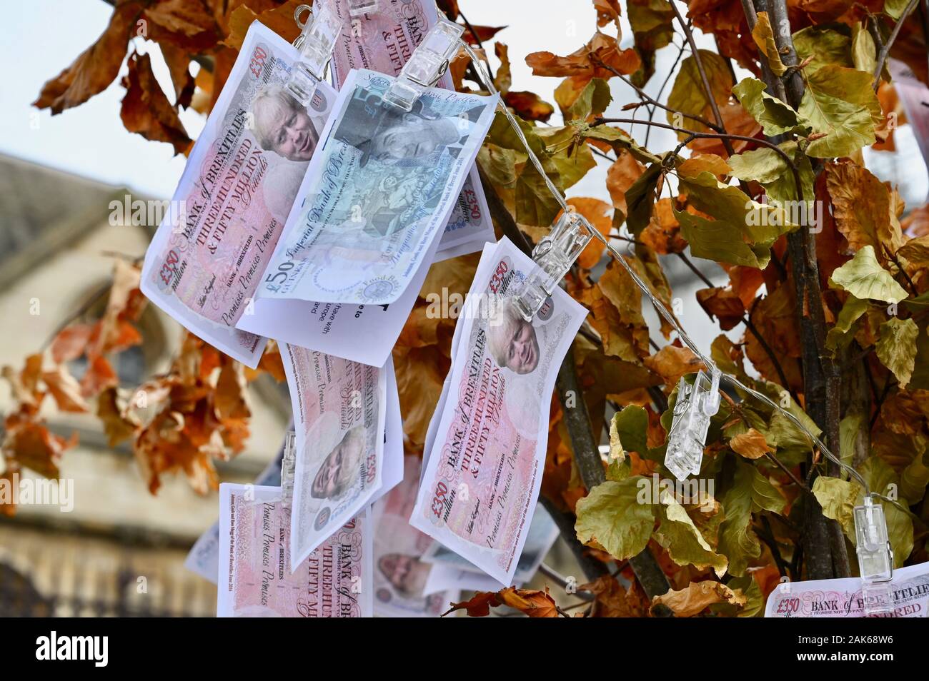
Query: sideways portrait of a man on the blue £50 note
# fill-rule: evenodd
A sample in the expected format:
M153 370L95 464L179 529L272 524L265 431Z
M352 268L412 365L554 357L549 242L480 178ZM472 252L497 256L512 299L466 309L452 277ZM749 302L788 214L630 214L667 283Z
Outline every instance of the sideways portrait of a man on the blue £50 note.
M361 168L372 160L386 165L425 166L434 153L443 149L456 154L484 109L479 106L458 116L441 117L420 99L408 113L387 107L380 95L358 89L348 102L335 138L361 152Z

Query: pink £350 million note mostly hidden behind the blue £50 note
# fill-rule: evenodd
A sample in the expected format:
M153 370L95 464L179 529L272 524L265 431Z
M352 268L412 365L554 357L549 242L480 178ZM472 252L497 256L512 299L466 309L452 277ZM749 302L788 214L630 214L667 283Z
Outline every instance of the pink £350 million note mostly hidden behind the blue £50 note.
M352 17L347 0L317 0L333 9L343 22L335 47L331 68L336 89L345 82L352 69L369 69L395 76L410 59L412 51L423 42L425 33L438 21L434 0L395 0L384 2L376 12ZM446 71L438 87L453 90L451 73ZM472 167L464 188L451 209L433 261L478 251L494 241L493 225L478 169Z

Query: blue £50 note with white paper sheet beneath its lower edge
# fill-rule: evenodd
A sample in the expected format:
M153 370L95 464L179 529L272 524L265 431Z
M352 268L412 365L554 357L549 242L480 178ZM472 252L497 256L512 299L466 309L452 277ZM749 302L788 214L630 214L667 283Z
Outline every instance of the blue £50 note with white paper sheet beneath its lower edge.
M386 362L497 101L431 88L401 114L381 102L392 80L351 71L238 328Z

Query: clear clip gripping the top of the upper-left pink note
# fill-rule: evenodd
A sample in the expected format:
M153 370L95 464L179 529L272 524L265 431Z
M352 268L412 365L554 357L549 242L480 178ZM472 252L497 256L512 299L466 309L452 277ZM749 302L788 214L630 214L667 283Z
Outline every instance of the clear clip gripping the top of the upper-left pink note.
M311 12L307 21L301 21L300 16L308 11L308 5L294 10L294 21L300 27L294 47L300 51L300 60L294 63L290 79L285 84L287 92L305 107L316 91L316 85L325 78L326 66L333 58L335 41L342 31L342 21L330 6L316 3L316 11Z

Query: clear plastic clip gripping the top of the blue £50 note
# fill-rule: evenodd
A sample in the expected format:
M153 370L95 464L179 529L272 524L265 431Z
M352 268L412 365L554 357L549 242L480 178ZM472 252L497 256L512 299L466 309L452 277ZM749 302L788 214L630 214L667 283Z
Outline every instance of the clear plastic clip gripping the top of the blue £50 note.
M395 80L384 94L386 104L412 111L412 105L426 88L438 83L449 68L462 42L464 27L439 19L425 34L423 42L413 50L410 60L403 65Z

